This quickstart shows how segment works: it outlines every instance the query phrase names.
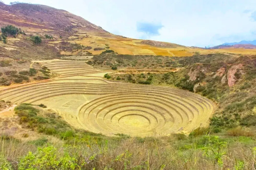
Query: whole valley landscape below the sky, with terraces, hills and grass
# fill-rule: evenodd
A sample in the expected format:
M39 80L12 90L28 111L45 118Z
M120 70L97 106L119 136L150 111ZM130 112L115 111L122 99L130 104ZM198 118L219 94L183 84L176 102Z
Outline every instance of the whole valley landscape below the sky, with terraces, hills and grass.
M256 48L114 35L0 1L0 169L256 169Z

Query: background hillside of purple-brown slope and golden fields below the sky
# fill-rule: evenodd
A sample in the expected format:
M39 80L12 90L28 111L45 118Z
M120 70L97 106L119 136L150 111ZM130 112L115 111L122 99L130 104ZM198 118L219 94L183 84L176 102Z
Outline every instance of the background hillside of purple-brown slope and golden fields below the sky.
M21 28L28 35L52 35L53 40L46 44L59 50L63 55L97 55L104 50L114 50L119 54L192 56L194 54L234 53L255 54L256 50L200 49L183 45L137 40L109 33L82 17L65 10L45 5L18 3L0 4L0 26L12 24ZM75 44L85 48L72 48ZM65 45L65 47L61 47Z

